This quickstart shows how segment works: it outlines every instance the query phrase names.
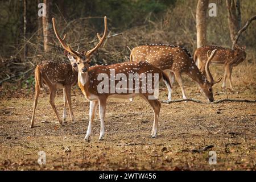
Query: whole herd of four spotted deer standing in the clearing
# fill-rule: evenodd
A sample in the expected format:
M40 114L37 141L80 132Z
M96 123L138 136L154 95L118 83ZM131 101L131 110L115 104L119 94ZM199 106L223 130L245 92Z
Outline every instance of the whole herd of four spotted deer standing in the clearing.
M64 48L64 55L68 57L71 64L43 61L36 66L35 100L31 127L34 127L35 110L38 104L40 89L43 88L43 85L47 86L49 89L49 102L61 126L63 126L66 121L67 105L69 107L71 121L74 121L75 118L71 104L71 88L78 82L82 94L84 94L86 100L90 102L89 125L85 139L89 139L90 137L97 107L99 108L101 121L99 137L99 140L101 140L104 138L105 134L104 119L108 98L133 100L135 96L142 97L154 111L151 137L155 138L158 131L158 118L161 107L157 99L158 85L161 79L167 86L169 101L171 100L172 84L175 78L181 88L183 98L187 98L181 77L181 73L185 73L199 85L207 100L213 102L213 85L220 82L222 77L214 81L210 73L209 65L212 63L224 65L225 73L222 88L225 88L226 77L228 77L230 89L233 90L231 81L232 68L246 58L245 47L241 48L237 46L234 49L229 49L217 46L203 46L197 48L192 57L184 47L149 44L133 48L130 53L130 61L111 65L90 66L93 53L101 47L107 36L108 25L106 16L104 17L104 34L102 37L97 34L98 43L89 51L79 52L78 49L77 51L73 50L70 44L65 42L66 35L64 35L63 38L60 37L54 18L52 18L52 23L56 38ZM130 77L131 75L133 77ZM109 80L110 85L102 85L102 82L106 83ZM129 86L127 87L128 82ZM122 88L115 89L118 85L120 87L122 86ZM154 92L148 89L150 87L154 88ZM63 89L64 98L62 119L57 112L54 101L56 90L59 88ZM102 92L102 90L104 92ZM114 92L112 92L113 90Z

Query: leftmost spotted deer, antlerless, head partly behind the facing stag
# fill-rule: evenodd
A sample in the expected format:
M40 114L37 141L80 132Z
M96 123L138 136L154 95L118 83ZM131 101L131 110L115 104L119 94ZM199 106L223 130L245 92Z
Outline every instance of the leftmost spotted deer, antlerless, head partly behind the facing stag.
M71 55L68 55L67 51L64 51L64 54L68 56L73 66L68 63L55 63L53 61L43 61L36 66L35 100L30 125L31 128L34 127L36 105L38 104L38 97L40 94L40 89L43 88L43 84L49 88L49 102L52 106L52 109L55 111L55 114L61 126L63 126L63 123L65 123L67 104L69 107L71 120L74 121L73 110L71 105L71 87L73 85L76 85L77 83L77 65L76 63L74 63L72 59L73 57ZM60 118L60 115L56 109L54 102L56 90L59 88L63 88L63 121Z

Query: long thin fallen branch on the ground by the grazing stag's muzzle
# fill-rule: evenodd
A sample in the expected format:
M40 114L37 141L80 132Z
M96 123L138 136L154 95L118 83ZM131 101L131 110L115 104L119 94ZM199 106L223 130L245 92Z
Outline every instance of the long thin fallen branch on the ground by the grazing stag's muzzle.
M163 103L166 103L166 104L170 104L170 103L174 103L174 102L184 102L184 101L192 101L192 102L197 102L197 103L200 103L200 104L218 104L218 103L221 103L221 102L251 102L251 103L255 103L256 100L238 100L238 99L229 99L229 98L225 98L225 99L222 99L222 100L217 100L217 101L214 101L214 102L202 102L202 101L199 101L199 100L196 100L196 99L193 99L193 98L186 98L186 99L178 99L178 100L172 100L172 101L162 101Z

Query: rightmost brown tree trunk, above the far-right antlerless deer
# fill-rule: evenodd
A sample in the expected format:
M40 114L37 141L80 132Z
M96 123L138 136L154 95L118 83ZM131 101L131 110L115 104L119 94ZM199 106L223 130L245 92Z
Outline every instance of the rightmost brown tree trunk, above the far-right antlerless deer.
M240 3L239 3L239 6L240 6ZM239 22L238 22L238 15L237 15L238 7L236 7L236 3L234 2L234 0L226 0L226 7L228 9L230 39L231 41L233 41L234 37L236 36L239 30ZM239 7L239 11L240 11L240 7Z

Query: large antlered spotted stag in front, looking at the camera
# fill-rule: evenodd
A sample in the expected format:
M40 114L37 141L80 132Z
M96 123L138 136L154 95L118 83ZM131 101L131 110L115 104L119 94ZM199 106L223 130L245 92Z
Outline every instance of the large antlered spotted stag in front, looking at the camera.
M55 28L55 20L53 20L53 27ZM102 45L104 40L106 39L106 34L108 31L107 26L107 19L106 16L104 18L105 22L105 30L104 34L101 37L99 34L97 34L99 42L90 51L85 52L74 52L72 48L67 45L57 34L56 28L55 28L55 34L57 38L59 39L61 45L64 49L66 49L71 55L75 56L77 68L79 71L78 76L78 83L79 87L84 94L85 98L90 101L90 111L89 111L89 125L86 132L85 139L89 139L90 133L92 131L92 122L95 117L95 113L97 110L97 106L99 107L99 115L101 120L101 130L100 130L100 138L99 140L104 138L104 118L105 118L105 112L106 112L106 101L108 98L132 98L135 96L140 96L144 100L146 100L152 109L154 110L154 123L152 126L151 131L151 137L156 137L156 133L158 130L158 117L160 113L160 107L161 104L155 98L154 93L146 92L143 93L142 90L146 88L146 85L144 85L144 81L148 80L154 80L154 89L156 89L156 86L158 81L156 78L158 77L159 80L163 78L163 80L166 82L168 86L171 87L171 84L168 80L168 77L164 74L161 69L154 67L154 65L151 65L147 62L125 62L125 63L118 63L113 65L94 65L92 67L89 67L91 56L94 52L97 51L97 49ZM117 75L115 75L117 73ZM151 78L144 77L143 75L146 75L147 73L151 73L154 76ZM130 78L130 74L135 75L137 74L138 77L132 77ZM127 79L129 77L129 81ZM101 92L102 89L102 78L104 81L109 81L110 78L110 86L107 84L107 86L103 86L104 92ZM122 79L121 79L122 78ZM135 80L139 81L139 84L135 86ZM130 81L132 81L132 84L130 85ZM122 92L120 90L117 90L118 84L120 85L120 82L122 82ZM129 86L127 87L127 82L129 82ZM113 85L112 85L113 84ZM126 85L125 85L126 84ZM135 89L134 89L135 86ZM148 86L148 85L147 85ZM100 91L99 91L100 88ZM110 90L109 90L110 89ZM134 92L137 90L137 92ZM109 92L110 91L110 92ZM132 91L132 92L131 92Z

